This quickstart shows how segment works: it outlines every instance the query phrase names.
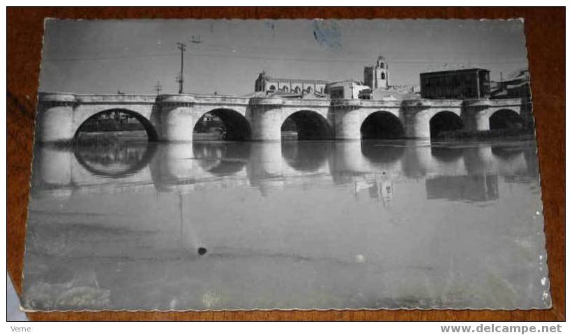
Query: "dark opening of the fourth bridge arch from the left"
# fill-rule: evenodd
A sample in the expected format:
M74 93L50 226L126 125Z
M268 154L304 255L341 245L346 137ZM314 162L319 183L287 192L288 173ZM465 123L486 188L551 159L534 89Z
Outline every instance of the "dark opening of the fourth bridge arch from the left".
M401 120L389 111L374 111L361 123L361 139L402 139L405 127Z

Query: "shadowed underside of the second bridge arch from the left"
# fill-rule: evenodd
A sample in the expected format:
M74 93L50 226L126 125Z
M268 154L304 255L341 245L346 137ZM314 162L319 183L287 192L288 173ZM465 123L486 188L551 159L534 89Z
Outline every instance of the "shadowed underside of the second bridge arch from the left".
M234 109L218 108L207 111L195 121L193 139L195 139L195 134L202 132L202 128L206 125L207 115L215 116L223 123L224 129L220 130L220 134L224 141L248 141L252 136L250 123L245 116Z

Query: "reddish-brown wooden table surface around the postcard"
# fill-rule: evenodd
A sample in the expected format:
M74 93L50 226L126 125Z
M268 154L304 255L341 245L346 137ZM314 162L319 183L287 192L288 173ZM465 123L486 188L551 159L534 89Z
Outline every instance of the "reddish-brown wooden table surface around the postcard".
M565 320L564 8L8 8L8 272L22 290L43 19L523 17L539 144L550 292L543 311L232 311L28 313L31 320Z

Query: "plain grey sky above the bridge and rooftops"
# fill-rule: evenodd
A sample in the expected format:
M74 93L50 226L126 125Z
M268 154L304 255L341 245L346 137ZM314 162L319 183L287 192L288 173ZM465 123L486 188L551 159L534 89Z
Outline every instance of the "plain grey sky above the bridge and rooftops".
M361 81L380 54L396 85L428 71L486 68L498 80L527 68L520 20L49 20L40 91L154 94L160 81L177 93L177 42L184 93L250 93L263 70Z

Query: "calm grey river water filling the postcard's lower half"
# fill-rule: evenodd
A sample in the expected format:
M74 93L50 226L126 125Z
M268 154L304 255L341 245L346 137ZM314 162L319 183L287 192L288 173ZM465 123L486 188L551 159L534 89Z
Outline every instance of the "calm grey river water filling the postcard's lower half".
M36 146L32 310L545 309L534 141Z

